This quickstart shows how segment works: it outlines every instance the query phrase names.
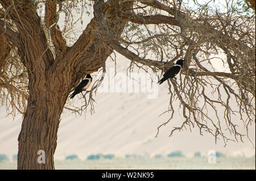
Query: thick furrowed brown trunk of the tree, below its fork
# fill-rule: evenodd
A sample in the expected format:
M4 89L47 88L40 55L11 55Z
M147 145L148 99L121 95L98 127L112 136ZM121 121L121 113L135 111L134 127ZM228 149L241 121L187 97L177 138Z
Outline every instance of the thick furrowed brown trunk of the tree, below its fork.
M52 72L46 78L30 79L30 96L18 138L18 169L55 169L57 130L69 92L64 77Z

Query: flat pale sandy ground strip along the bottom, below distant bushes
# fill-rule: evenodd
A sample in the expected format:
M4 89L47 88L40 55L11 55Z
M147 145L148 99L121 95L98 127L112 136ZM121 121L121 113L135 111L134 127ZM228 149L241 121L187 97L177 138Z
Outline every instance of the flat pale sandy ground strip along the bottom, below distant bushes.
M0 162L0 170L16 169L16 162ZM86 170L175 170L175 169L246 169L255 170L255 158L217 158L216 163L208 163L207 158L152 158L152 159L100 159L100 160L56 160L55 169Z

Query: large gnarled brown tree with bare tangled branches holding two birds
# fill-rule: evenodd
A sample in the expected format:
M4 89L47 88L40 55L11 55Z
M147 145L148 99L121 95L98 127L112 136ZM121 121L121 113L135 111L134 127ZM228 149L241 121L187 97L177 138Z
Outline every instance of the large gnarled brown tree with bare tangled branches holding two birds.
M66 104L69 93L87 73L104 75L105 61L115 52L131 60L130 71L135 66L163 72L179 58L187 60L184 77L168 81L170 120L176 99L184 116L170 136L198 127L200 134L208 132L225 144L249 138L248 129L255 125L255 14L238 11L240 5L226 1L219 8L212 1L187 5L156 0L0 3L0 98L7 113L23 114L18 169L55 168L53 154L63 109L81 112L90 105L92 111L93 92L104 76L85 93L88 99L82 96L85 105L81 108ZM74 11L81 16L93 12L75 42L69 33L74 23L82 21L75 22ZM58 24L61 12L64 27ZM214 70L213 57L227 65L228 71ZM237 105L230 105L232 99ZM208 117L208 109L216 112L216 119ZM237 129L233 114L239 116L245 134ZM46 164L37 163L38 150L46 152Z

